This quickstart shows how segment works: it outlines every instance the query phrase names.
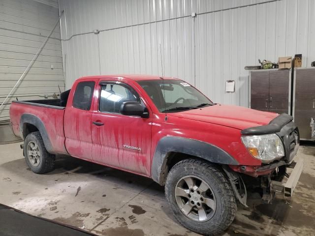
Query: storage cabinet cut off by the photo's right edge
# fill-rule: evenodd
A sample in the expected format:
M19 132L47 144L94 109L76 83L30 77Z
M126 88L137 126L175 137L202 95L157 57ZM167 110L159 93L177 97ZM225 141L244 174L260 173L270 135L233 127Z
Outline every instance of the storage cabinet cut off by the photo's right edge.
M314 141L310 123L315 118L315 67L294 69L292 113L300 138Z

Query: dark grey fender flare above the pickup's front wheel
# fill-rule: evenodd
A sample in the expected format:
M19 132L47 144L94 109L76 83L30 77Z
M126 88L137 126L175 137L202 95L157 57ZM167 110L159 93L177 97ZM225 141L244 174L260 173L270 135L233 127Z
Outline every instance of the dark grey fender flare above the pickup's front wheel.
M196 156L213 163L239 164L226 151L212 144L189 138L166 136L158 141L151 167L151 177L160 185L164 184L168 171L167 159L172 152Z

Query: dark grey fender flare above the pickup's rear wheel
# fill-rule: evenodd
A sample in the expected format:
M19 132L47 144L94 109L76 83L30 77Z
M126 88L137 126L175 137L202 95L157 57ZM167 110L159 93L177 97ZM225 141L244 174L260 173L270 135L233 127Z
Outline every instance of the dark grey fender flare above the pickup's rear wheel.
M47 149L47 151L49 153L53 154L53 152L54 152L53 146L51 145L51 142L50 142L50 139L48 137L48 133L47 133L47 130L46 130L46 127L45 127L43 121L40 118L38 118L32 114L28 114L28 113L23 114L21 116L21 119L20 119L20 132L22 134L23 139L26 138L25 137L25 132L26 132L26 130L25 130L26 125L25 124L26 123L32 124L38 129L38 131L39 131L39 133L40 133L40 135L44 141L45 148Z

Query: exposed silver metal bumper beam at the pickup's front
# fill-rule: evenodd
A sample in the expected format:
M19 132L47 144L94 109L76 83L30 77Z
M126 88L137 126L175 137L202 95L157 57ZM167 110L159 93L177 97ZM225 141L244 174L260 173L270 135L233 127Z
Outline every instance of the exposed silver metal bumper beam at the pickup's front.
M299 181L299 178L303 171L303 159L299 159L297 162L292 162L286 168L292 168L292 172L287 178L287 180L276 181L271 180L270 191L272 193L283 193L284 197L292 197L293 191Z

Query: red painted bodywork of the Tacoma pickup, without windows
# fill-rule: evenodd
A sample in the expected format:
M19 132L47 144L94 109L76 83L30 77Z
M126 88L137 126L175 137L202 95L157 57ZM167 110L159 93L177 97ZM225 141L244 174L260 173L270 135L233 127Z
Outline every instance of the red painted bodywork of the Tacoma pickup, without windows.
M261 161L252 157L241 142L241 130L265 125L278 116L244 107L215 105L190 111L159 113L150 97L136 83L140 80L158 80L158 76L113 75L83 77L75 81L65 110L56 110L12 103L10 117L13 130L20 135L19 123L24 113L40 118L57 153L122 169L139 175L151 176L152 158L158 141L165 136L179 136L215 145L240 165L249 166L245 172L251 176ZM167 79L174 79L165 77ZM74 90L79 82L95 81L95 91L90 111L72 107ZM128 117L98 111L100 81L120 81L135 89L150 112L150 118ZM96 126L92 122L103 122ZM64 130L64 131L63 131ZM142 151L123 148L123 145L140 147ZM251 167L252 166L252 167ZM241 172L240 166L230 166ZM266 174L266 173L263 173Z

